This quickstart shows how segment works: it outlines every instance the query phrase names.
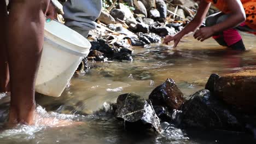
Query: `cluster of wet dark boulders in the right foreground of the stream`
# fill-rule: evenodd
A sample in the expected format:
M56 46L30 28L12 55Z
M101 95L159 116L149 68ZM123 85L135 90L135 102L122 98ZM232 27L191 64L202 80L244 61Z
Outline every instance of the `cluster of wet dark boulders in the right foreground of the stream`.
M205 89L185 98L175 82L167 79L148 100L132 93L119 95L111 112L127 129L160 132L160 122L168 122L182 128L255 131L255 85L256 70L222 77L212 74Z

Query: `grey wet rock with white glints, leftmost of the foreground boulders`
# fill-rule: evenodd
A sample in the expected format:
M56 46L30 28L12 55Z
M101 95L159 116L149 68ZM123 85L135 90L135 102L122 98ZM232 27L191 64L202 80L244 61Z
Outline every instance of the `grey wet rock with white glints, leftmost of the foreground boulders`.
M116 116L124 121L127 130L141 131L153 127L158 133L161 132L160 119L156 116L152 104L139 95L119 95Z

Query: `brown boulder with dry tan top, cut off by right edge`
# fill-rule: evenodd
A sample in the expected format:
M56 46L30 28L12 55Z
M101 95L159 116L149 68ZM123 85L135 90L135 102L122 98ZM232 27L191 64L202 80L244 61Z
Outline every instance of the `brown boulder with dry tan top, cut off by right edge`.
M214 89L210 89L216 97L235 106L238 111L256 113L256 70L238 71L223 75L214 81L211 82L214 83Z

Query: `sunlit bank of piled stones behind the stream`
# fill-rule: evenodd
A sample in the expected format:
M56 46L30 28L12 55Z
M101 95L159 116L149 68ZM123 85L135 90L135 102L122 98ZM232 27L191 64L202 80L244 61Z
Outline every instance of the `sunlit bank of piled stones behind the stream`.
M127 49L161 43L161 37L181 31L193 19L198 6L192 0L106 0L103 7L97 28L89 33L89 58L95 61L132 61ZM107 50L95 48L100 45Z

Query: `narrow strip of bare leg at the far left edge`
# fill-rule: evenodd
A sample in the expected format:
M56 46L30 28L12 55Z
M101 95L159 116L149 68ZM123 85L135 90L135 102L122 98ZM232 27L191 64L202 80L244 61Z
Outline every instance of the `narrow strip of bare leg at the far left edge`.
M0 0L0 93L7 92L9 70L7 60L7 8L5 0Z

